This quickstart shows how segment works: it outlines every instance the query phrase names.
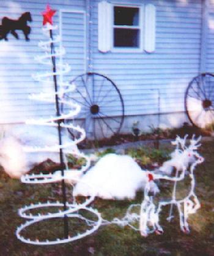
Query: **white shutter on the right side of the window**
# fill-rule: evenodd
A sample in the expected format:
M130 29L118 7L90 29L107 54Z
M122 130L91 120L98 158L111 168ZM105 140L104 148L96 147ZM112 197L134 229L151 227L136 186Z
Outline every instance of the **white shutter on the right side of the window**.
M155 23L155 6L153 4L147 4L145 6L144 50L148 53L155 51Z

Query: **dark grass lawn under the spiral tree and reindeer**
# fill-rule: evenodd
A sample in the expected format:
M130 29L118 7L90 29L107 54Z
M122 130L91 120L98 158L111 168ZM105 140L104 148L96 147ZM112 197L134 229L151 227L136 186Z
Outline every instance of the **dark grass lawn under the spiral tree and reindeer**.
M170 145L164 145L164 150L168 150L168 146L171 149ZM137 151L136 157L140 157L141 153ZM135 154L134 149L131 152ZM166 221L169 212L169 208L166 207L161 214L161 225L164 228L164 234L161 236L152 234L144 238L138 231L131 230L129 227L109 225L100 227L93 235L68 244L58 246L24 244L15 236L17 226L25 221L18 216L18 208L38 201L60 199L60 185L25 185L19 180L10 179L0 171L0 256L213 256L213 141L203 142L200 153L205 158L205 162L197 167L195 175L196 194L201 201L201 209L196 214L190 215L188 222L191 233L189 235L180 231L176 211L174 211L175 219L171 223ZM155 157L160 157L160 152L156 152ZM180 188L182 189L183 187ZM168 188L164 188L164 194L168 192ZM68 188L68 198L71 201L70 188ZM133 201L97 199L92 206L101 212L103 218L111 220L113 217L122 217L131 203L141 203L141 201L142 193L138 193L136 200ZM85 228L79 221L69 220L69 224L71 234ZM62 236L62 225L62 220L44 221L26 230L26 234L28 233L32 238L54 238L55 235Z

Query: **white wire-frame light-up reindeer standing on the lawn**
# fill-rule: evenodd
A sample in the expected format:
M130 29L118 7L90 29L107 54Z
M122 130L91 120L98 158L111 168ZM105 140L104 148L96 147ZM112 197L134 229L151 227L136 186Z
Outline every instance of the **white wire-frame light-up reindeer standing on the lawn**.
M148 172L148 181L144 189L144 201L142 201L141 204L139 220L139 229L142 236L147 236L153 231L155 231L155 233L157 234L163 233L163 228L159 223L159 215L161 213L162 207L166 205L171 206L168 220L172 219L172 206L177 206L180 219L180 229L185 233L190 232L187 222L188 215L195 213L197 209L200 208L199 200L194 193L195 179L193 172L196 166L204 161L204 158L201 157L201 155L199 155L199 153L197 153L196 151L197 148L201 145L198 144L201 137L199 137L198 139L194 139L193 136L193 138L190 140L190 145L188 147L186 146L186 137L187 136L185 136L184 139L177 137L176 140L172 142L172 144L176 145L176 149L174 153L172 153L173 157L171 160L168 161L168 165L165 165L165 168L166 166L168 167L168 169L165 169L166 173L163 172L163 168L160 168L162 173ZM190 159L190 161L188 161L188 158ZM179 165L176 166L174 165L175 163L179 163ZM190 168L188 171L189 164ZM169 173L169 169L171 170L172 166L175 166L176 169L176 174L174 177L166 175ZM188 195L186 195L184 198L177 200L177 182L185 179L186 177L190 178L190 191ZM174 182L172 197L154 203L154 196L150 193L150 183L153 182L153 180L169 180L171 182Z

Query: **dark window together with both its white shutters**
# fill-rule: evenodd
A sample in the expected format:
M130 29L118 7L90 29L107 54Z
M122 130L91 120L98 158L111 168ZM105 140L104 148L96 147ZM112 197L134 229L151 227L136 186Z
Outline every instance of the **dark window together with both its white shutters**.
M155 52L156 10L153 4L98 2L98 50ZM142 42L143 39L143 42Z

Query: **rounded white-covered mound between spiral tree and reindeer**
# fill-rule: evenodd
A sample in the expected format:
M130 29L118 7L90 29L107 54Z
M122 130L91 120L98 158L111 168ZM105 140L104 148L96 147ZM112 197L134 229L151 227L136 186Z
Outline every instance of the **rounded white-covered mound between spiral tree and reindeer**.
M79 180L73 195L95 195L103 199L123 200L135 198L138 190L143 190L147 174L128 155L110 153L101 158ZM154 192L158 187L154 183Z

